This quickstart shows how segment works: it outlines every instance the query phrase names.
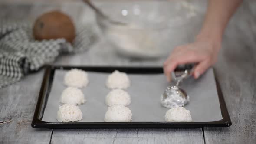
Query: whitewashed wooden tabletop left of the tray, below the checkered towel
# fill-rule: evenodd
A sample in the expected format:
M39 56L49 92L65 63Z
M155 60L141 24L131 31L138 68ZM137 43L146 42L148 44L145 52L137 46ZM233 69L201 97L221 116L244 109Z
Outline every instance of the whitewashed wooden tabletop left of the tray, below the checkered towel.
M35 129L31 121L43 71L0 90L0 144L46 144L51 129Z

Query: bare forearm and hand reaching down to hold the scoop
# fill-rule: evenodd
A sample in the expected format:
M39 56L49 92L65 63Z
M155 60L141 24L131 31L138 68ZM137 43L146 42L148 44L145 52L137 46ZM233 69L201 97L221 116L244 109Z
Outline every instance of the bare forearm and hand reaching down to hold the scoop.
M243 0L209 0L208 9L197 40L176 47L164 62L164 74L171 81L171 72L180 64L198 63L194 70L197 79L217 61L224 29Z

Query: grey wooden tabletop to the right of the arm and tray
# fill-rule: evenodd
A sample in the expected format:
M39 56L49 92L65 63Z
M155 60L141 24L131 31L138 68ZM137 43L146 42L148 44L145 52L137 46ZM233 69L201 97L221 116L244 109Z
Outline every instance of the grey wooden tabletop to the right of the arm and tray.
M215 68L233 125L204 128L206 144L256 143L255 18L256 1L246 1L226 29Z

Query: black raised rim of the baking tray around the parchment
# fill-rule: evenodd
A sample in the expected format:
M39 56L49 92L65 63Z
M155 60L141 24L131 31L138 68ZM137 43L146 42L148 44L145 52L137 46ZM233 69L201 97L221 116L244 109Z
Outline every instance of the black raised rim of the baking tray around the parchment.
M211 122L69 122L69 123L60 123L60 122L46 122L40 120L40 115L43 113L43 102L47 102L46 95L49 96L50 92L48 91L51 88L50 76L53 76L53 73L56 69L87 69L87 71L102 71L102 72L112 72L114 69L119 70L130 70L131 73L134 71L148 70L149 73L162 73L162 67L135 67L135 66L65 66L65 65L46 65L46 70L43 76L43 81L41 89L39 92L35 112L33 115L33 120L31 126L33 128L203 128L203 127L229 127L232 125L228 110L226 108L226 103L223 97L222 90L218 79L216 78L216 72L213 69L217 93L219 97L222 120L211 121ZM136 72L138 73L138 72ZM144 73L144 72L141 72Z

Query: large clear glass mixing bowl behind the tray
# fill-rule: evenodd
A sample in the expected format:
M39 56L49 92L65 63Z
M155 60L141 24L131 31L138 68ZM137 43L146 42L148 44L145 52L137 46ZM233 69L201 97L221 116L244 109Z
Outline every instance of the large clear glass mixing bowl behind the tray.
M169 54L177 45L194 39L198 10L184 0L108 1L97 7L112 20L108 23L96 14L105 38L125 56L156 58Z

